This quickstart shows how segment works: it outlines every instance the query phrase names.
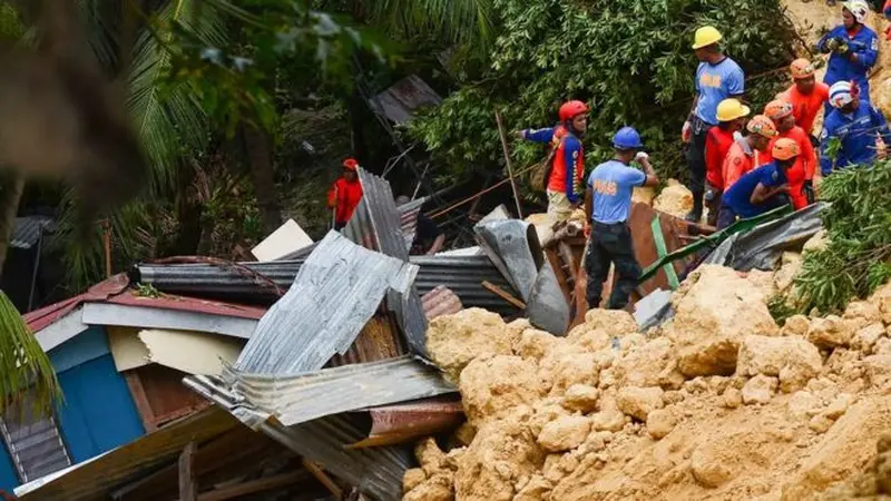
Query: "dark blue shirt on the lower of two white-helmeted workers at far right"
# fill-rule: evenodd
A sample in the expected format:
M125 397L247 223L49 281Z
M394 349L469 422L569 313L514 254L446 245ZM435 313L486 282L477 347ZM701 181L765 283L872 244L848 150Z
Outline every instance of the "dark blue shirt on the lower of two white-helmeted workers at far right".
M833 109L823 121L820 135L820 171L823 176L832 173L832 157L829 155L832 138L841 140L841 148L835 154L835 169L872 163L877 134L882 135L885 145L891 145L891 130L884 115L869 102L861 100L860 107L848 115Z

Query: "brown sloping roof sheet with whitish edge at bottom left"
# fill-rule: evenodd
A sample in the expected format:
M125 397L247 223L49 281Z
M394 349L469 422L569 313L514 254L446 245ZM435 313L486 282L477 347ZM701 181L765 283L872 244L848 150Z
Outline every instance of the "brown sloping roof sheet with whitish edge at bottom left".
M16 494L22 501L107 500L109 490L176 458L187 443L203 442L238 425L225 411L210 407L71 469L21 485Z

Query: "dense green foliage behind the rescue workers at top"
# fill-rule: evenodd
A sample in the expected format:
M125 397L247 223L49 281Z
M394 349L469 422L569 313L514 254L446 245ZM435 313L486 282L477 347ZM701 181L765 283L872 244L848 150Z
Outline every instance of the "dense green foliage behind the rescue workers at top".
M611 134L634 125L663 175L683 171L681 126L689 111L697 61L693 32L712 23L748 76L746 98L771 99L793 58L795 31L776 0L495 0L502 23L481 80L462 86L411 134L439 160L438 174L492 169L501 158L493 109L508 127L551 125L559 104L591 105L588 165L606 155ZM780 69L779 71L773 71ZM540 148L518 145L520 165ZM447 169L442 169L442 166Z

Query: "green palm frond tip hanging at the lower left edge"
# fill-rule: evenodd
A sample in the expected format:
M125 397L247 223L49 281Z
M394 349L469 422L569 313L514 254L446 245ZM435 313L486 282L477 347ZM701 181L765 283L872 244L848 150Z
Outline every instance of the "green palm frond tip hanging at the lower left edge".
M25 320L0 291L0 411L14 407L18 396L33 390L37 412L48 413L61 399L59 381L43 348Z

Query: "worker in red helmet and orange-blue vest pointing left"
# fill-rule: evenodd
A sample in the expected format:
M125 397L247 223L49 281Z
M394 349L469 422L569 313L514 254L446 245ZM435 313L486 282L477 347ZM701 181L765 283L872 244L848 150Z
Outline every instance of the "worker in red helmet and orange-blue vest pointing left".
M585 150L581 136L588 128L588 105L568 101L560 106L560 124L538 130L521 130L520 137L535 143L549 143L554 161L546 171L548 217L551 224L565 222L582 203Z

